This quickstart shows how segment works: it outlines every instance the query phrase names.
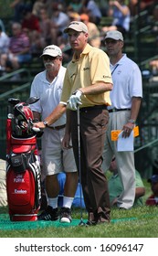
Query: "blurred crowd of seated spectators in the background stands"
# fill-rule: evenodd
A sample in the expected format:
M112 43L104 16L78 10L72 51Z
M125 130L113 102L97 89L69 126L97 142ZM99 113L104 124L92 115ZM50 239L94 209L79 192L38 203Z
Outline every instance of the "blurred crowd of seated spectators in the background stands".
M124 37L128 36L132 17L145 9L155 20L153 31L158 30L158 6L154 0L14 0L10 8L14 15L7 24L7 31L5 22L0 19L0 67L6 71L18 69L49 44L58 45L62 50L68 48L68 36L63 30L73 20L87 25L89 43L97 48L101 48L101 38L109 30L117 29ZM101 27L104 16L111 17L110 26ZM69 60L67 54L65 58ZM151 65L158 67L157 62Z

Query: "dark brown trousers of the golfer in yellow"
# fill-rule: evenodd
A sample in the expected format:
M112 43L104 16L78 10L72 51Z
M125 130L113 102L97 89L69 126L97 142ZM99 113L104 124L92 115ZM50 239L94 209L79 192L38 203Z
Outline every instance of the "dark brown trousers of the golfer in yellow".
M101 108L84 108L79 112L79 139L77 112L71 112L71 139L76 164L80 174L83 196L89 215L101 215L101 219L110 220L110 198L107 178L104 175L102 153L105 132L109 121L109 112ZM79 157L80 141L80 157Z

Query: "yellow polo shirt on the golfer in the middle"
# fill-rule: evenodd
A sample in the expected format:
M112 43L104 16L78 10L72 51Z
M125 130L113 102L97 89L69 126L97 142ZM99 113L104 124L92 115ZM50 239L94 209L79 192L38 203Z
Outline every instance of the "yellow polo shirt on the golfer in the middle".
M73 56L68 63L60 101L67 102L73 91L100 81L112 83L109 57L103 50L87 44L79 60L74 59ZM98 95L82 95L81 102L81 108L111 105L110 91Z

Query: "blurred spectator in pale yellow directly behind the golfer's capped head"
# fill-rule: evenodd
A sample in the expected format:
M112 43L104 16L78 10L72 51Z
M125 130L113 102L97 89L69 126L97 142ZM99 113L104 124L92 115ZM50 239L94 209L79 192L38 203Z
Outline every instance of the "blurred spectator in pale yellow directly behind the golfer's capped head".
M89 29L89 43L92 47L100 48L100 30L98 27L89 21L87 14L80 15L80 21L84 22Z

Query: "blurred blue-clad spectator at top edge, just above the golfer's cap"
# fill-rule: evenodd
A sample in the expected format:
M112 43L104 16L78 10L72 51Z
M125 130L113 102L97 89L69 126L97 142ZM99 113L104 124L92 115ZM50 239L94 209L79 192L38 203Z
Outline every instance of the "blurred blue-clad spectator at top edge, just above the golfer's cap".
M96 26L100 25L102 15L100 7L96 4L96 1L82 0L82 8L80 12L88 14L88 16L90 16L90 22L93 22Z

